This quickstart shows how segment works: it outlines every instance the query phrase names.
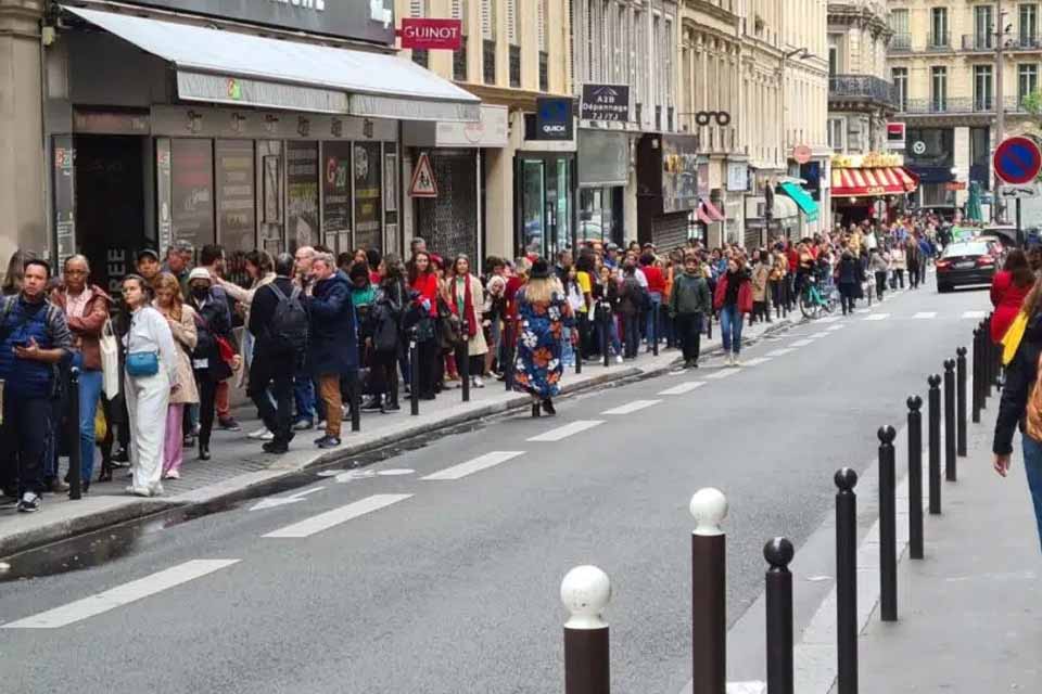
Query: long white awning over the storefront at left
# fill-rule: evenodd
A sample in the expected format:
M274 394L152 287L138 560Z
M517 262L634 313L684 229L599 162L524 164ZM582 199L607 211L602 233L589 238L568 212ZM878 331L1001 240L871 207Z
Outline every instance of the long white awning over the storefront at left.
M411 61L162 20L64 8L177 69L187 101L475 123L481 100Z

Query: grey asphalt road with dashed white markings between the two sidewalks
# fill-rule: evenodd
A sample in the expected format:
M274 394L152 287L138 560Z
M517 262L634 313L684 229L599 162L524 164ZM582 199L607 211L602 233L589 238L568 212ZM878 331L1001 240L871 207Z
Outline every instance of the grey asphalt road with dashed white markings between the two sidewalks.
M967 312L987 308L982 291L905 292L764 340L742 358L766 361L722 378L717 359L562 400L556 419L488 422L280 494L304 492L295 503L250 502L142 532L91 568L0 583L0 680L78 694L560 692L560 580L593 563L614 590L613 691L675 694L690 677L691 493L730 501L734 621L762 590L763 542L786 535L799 551L831 513L833 472L865 466L876 428L900 424L905 397L970 342ZM704 385L672 390L691 382ZM387 471L412 472L370 474ZM229 562L199 563L214 560Z

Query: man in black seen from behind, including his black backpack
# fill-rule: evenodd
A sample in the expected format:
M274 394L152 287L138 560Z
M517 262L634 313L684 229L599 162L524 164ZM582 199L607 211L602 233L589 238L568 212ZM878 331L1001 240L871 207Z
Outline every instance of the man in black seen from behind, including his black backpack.
M256 340L249 395L264 425L275 435L263 448L278 454L287 452L293 439L293 373L303 363L308 336L307 310L301 287L293 284L293 256L280 254L275 261L275 280L260 286L250 305L249 329Z

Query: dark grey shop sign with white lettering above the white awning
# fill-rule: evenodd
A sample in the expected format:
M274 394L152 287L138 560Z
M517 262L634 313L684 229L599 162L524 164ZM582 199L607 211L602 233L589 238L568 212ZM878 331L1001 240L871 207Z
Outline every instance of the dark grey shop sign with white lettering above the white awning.
M249 24L394 43L394 0L124 0Z

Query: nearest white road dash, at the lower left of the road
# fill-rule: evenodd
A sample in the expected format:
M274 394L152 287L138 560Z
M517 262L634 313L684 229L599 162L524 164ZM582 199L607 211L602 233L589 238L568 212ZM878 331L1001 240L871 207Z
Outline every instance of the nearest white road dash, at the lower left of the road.
M192 560L90 597L18 619L2 629L58 629L227 568L239 560Z

